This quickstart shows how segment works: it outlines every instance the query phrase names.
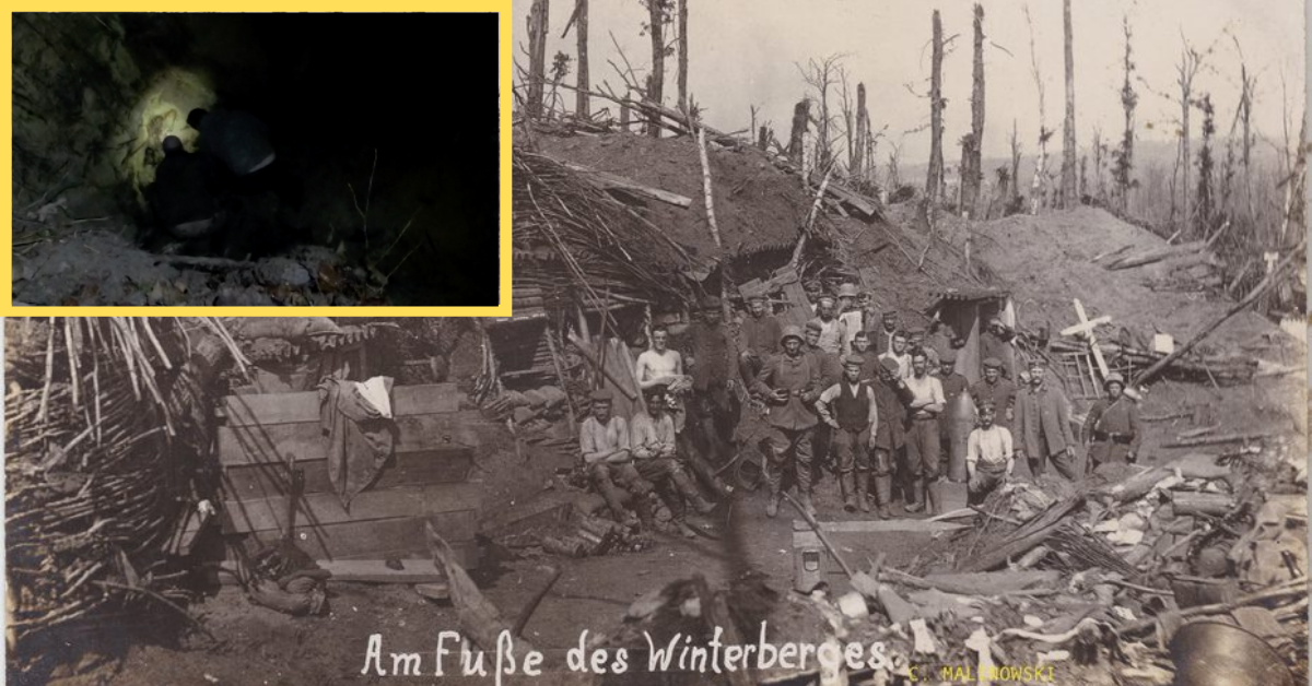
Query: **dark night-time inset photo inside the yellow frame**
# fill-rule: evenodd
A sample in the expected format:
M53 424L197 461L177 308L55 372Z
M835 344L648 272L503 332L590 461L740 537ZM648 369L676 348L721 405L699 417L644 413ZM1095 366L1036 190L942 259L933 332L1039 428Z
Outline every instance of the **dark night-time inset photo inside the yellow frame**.
M499 304L499 21L13 13L13 302Z

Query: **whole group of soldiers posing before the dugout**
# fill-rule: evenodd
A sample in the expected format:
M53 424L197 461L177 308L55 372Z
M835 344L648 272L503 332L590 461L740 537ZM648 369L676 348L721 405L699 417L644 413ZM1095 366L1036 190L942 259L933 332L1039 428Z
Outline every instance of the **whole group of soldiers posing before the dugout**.
M660 487L676 513L710 512L714 504L698 481L716 497L727 494L715 467L749 443L766 458L769 517L789 485L815 515L821 466L834 472L846 512L874 506L882 518L892 517L895 491L907 513L938 512L937 483L953 462L964 462L959 477L976 501L1006 481L1017 460L1034 476L1051 464L1063 477L1077 477L1081 443L1071 404L1048 382L1042 357L1017 374L1019 388L993 355L970 384L956 369L963 341L950 327L935 320L928 331L908 332L895 312L884 312L867 328L875 317L853 285L817 294L806 327L781 324L765 293L745 300L737 336L723 324L719 299L703 302L682 354L669 348L668 331L652 331L651 349L635 361L646 408L635 409L631 425L611 416L609 392L593 395L580 434L583 459L617 519L635 519L626 500L636 519L647 519ZM1134 462L1141 441L1138 408L1122 395L1124 379L1109 374L1106 388L1084 425L1089 468Z

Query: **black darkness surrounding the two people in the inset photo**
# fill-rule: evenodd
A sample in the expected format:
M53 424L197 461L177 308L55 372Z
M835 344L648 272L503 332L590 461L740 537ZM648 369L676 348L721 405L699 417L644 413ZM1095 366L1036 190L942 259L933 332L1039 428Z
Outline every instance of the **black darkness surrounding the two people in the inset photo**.
M51 45L60 43L60 31L76 33L70 29L75 24L59 24L64 17L72 22L76 14L14 17L16 41L24 21L30 22L24 35ZM106 140L115 123L122 129L125 119L151 119L155 113L140 129L144 134L127 143L106 142L97 151L119 167L121 156L140 151L139 167L146 168L163 159L155 151L165 135L182 136L189 150L198 146L198 134L186 122L192 108L241 110L268 126L279 176L297 188L297 203L277 193L264 205L245 199L235 210L230 205L227 228L185 244L184 252L249 258L321 245L341 257L342 270L367 272L377 283L386 283L373 304L496 304L497 14L123 13L92 18L115 34L139 75L133 85L143 91L123 93L123 84L109 77L108 84L96 83L94 68L79 72L85 83L77 85L98 94L98 102L117 105L104 126ZM113 76L113 64L105 70ZM39 110L47 102L25 102L20 91L25 84L30 88L31 80L16 79L16 117L21 108ZM163 81L172 85L161 87ZM118 92L106 94L105 89ZM79 105L85 108L88 98ZM171 106L176 111L165 111ZM16 127L16 147L22 146L21 138ZM24 152L30 155L16 150L16 177ZM131 176L119 173L119 185L133 185ZM136 181L146 186L142 178L151 174ZM16 209L17 194L16 188ZM136 243L159 252L160 243L176 237L151 228L151 203L144 197L123 188L115 193L118 206L142 227Z

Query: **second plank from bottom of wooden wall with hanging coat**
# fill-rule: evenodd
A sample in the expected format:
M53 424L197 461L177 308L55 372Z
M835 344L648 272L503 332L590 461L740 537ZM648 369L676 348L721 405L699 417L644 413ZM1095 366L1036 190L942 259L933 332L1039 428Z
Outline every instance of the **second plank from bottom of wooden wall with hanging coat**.
M478 510L480 491L480 484L468 483L366 491L350 501L350 512L341 506L341 500L333 493L312 493L300 498L297 519L304 517L306 525L314 526ZM287 498L227 500L223 502L223 512L224 533L282 529L287 517Z

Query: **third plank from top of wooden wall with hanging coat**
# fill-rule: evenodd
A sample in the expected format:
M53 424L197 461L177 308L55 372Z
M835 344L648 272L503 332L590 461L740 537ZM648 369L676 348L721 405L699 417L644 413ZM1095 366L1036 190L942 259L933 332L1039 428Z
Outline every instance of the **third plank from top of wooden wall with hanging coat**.
M303 493L329 493L328 460L297 460L306 474ZM466 447L437 449L392 455L370 491L405 485L454 484L468 477L474 451ZM223 471L223 494L228 500L252 500L286 493L286 467L278 463L234 464Z

